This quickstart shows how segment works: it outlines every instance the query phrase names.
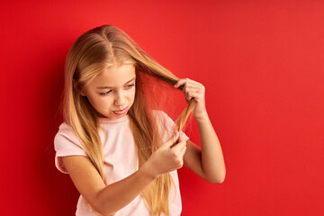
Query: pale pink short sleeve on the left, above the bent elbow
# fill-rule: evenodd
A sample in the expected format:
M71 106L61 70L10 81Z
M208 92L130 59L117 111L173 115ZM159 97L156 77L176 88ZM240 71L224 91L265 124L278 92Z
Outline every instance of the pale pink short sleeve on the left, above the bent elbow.
M67 123L59 126L58 133L54 138L54 148L56 150L55 166L62 173L67 174L67 169L62 162L62 157L66 156L87 156L85 149L82 147L73 130Z

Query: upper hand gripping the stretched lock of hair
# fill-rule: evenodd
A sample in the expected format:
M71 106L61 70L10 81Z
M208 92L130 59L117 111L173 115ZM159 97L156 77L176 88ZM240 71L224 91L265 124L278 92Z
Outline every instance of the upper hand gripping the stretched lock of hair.
M193 109L194 119L200 120L207 116L206 105L205 105L205 87L189 78L179 79L174 87L177 88L184 85L183 93L185 100L188 103L192 98L194 99L195 106Z

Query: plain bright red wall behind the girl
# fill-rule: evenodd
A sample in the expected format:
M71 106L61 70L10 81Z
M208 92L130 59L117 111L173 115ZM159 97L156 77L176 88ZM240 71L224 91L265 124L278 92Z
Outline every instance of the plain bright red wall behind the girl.
M2 215L74 215L54 166L67 50L104 23L206 87L227 176L179 171L183 215L324 215L323 1L1 3ZM189 134L199 142L196 126Z

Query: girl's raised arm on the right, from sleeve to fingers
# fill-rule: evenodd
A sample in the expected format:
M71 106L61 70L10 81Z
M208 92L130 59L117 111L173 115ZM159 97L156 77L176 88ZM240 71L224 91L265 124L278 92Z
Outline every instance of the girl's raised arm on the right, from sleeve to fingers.
M226 168L220 141L212 127L205 108L204 87L190 79L180 79L175 87L184 85L185 99L195 101L193 117L197 121L202 148L187 140L187 150L184 154L184 166L209 183L220 184L224 181Z

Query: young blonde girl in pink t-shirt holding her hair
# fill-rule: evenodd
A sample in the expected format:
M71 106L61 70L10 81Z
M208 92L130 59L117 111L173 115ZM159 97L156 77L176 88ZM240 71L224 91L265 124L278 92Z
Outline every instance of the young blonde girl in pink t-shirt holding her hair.
M150 107L145 76L183 90L188 105L175 123ZM181 131L191 112L202 148ZM183 165L209 183L224 181L203 85L177 78L114 26L86 31L69 50L63 117L55 162L81 193L76 215L180 215Z

